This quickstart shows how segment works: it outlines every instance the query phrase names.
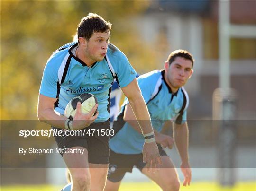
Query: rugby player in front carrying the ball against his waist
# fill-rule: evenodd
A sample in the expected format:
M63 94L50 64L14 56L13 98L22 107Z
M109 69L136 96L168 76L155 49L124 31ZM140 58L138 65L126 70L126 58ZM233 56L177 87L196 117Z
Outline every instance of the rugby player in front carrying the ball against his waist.
M109 130L111 83L116 79L144 134L154 136L150 115L137 84L136 71L127 57L110 44L111 23L97 14L89 13L77 28L77 42L56 50L46 63L39 90L37 115L42 122L56 130ZM81 112L81 103L70 121L64 117L68 102L82 93L97 97L98 104L88 114ZM93 113L98 109L98 112ZM107 132L107 131L106 131ZM81 154L62 154L71 173L73 190L100 191L104 189L109 164L109 136L56 136L59 148L84 149ZM144 153L148 164L161 163L155 141L145 138Z

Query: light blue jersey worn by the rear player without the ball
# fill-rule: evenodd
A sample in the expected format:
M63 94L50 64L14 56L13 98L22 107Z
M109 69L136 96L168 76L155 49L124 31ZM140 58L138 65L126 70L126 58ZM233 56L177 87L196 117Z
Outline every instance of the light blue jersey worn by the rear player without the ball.
M186 122L186 110L189 104L187 92L183 87L172 94L171 88L165 82L164 72L164 70L154 70L137 78L150 113L152 126L158 132L162 130L167 120L174 120L178 124ZM116 153L139 154L143 149L144 137L123 121L126 104L128 104L127 98L121 107L118 121L114 124L114 129L119 131L110 139L110 148Z

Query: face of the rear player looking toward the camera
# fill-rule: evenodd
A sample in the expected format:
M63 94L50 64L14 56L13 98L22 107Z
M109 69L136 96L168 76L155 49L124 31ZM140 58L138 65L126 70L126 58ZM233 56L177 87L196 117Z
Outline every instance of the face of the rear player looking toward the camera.
M167 81L171 87L174 89L182 87L193 73L192 61L182 57L176 57L171 64L166 61L165 72Z

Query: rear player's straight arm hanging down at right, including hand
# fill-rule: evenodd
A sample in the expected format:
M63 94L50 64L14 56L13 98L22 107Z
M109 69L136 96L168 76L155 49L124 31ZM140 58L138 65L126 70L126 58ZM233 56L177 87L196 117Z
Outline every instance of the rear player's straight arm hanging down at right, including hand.
M183 186L190 185L191 181L191 169L189 164L188 156L188 145L189 145L189 130L187 122L177 124L173 122L174 140L176 148L181 157L181 170L185 177Z

